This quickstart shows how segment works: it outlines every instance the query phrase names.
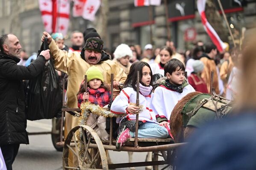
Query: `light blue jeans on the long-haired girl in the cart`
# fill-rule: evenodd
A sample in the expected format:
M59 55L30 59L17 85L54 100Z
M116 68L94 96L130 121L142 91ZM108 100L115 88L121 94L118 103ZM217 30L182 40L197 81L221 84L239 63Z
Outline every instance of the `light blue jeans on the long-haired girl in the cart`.
M135 138L135 132L130 132L131 138ZM145 122L138 127L138 138L167 138L168 130L153 122Z

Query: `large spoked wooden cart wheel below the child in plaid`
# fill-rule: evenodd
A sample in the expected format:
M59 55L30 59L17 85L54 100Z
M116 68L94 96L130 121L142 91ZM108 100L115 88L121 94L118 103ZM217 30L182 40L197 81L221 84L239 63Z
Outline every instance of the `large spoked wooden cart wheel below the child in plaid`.
M71 143L71 139L77 139L75 134L81 130L82 132L82 143L78 143L77 140L74 140L74 144ZM98 149L88 150L91 141L95 141ZM84 146L85 151L82 153L82 156L79 156L78 145L81 144ZM73 146L74 147L71 147ZM69 166L68 164L68 153L72 152L75 156L77 156L78 165L75 167ZM108 170L108 161L105 149L100 140L100 137L97 133L89 126L77 126L74 127L69 133L65 140L65 144L63 147L63 170Z

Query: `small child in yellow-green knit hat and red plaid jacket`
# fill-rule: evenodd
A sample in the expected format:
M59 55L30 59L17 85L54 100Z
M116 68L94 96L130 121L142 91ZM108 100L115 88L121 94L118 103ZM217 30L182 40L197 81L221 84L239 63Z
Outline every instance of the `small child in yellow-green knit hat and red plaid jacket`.
M78 107L88 100L92 104L104 107L110 102L109 86L103 83L103 74L96 66L91 66L87 72L87 93L85 92L84 81L80 85L77 93ZM90 114L86 125L92 127L102 140L109 140L109 134L106 132L106 118Z

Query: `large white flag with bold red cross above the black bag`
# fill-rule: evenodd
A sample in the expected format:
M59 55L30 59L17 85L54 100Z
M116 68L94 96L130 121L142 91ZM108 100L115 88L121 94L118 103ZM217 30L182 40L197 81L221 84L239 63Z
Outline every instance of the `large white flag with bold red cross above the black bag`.
M47 32L68 32L69 0L39 0L44 29Z

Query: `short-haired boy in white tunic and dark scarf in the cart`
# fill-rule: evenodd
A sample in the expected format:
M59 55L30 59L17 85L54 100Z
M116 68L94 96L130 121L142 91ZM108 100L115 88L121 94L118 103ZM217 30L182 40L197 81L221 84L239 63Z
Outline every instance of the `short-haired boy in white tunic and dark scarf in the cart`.
M154 91L151 108L160 125L170 127L170 117L178 101L194 88L187 83L184 76L185 67L178 59L171 59L164 67L166 78L159 81Z

